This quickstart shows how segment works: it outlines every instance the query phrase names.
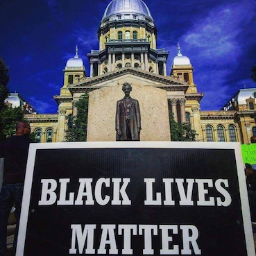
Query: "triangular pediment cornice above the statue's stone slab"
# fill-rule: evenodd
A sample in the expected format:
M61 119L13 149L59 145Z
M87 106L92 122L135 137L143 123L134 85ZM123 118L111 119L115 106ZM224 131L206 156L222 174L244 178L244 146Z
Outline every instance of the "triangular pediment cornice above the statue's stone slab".
M85 89L99 89L103 86L96 87L95 85L102 83L104 81L108 81L113 78L118 78L120 76L126 74L133 74L135 76L139 76L142 78L146 78L148 80L153 80L158 83L162 83L162 85L155 85L154 87L159 87L162 89L167 89L169 91L183 91L186 92L189 85L180 80L176 80L175 78L169 76L161 76L148 71L144 71L142 69L135 69L133 67L123 67L122 69L117 69L111 71L107 74L102 74L101 76L95 76L93 78L87 78L85 81L81 81L69 87L71 94L74 92L84 92Z

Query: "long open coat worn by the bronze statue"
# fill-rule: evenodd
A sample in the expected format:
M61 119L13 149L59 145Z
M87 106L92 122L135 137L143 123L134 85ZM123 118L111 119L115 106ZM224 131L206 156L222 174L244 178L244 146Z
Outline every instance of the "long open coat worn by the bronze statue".
M121 131L121 136L117 134L117 140L126 140L126 111L124 99L117 101L116 130ZM130 98L130 133L133 140L139 140L138 129L141 127L139 101Z

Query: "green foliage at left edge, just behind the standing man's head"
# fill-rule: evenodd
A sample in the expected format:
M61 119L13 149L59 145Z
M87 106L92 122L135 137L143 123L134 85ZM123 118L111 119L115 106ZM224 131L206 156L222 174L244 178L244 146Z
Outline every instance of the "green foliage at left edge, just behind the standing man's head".
M15 125L24 119L24 111L22 108L3 108L0 112L0 142L15 135Z

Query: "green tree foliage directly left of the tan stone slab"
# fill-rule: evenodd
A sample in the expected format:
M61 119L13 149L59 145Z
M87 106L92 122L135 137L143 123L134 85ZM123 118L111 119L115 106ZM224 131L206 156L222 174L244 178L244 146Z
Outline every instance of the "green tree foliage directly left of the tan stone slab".
M88 103L88 94L83 94L79 101L74 103L74 107L77 108L77 115L76 117L67 117L66 142L86 142Z

